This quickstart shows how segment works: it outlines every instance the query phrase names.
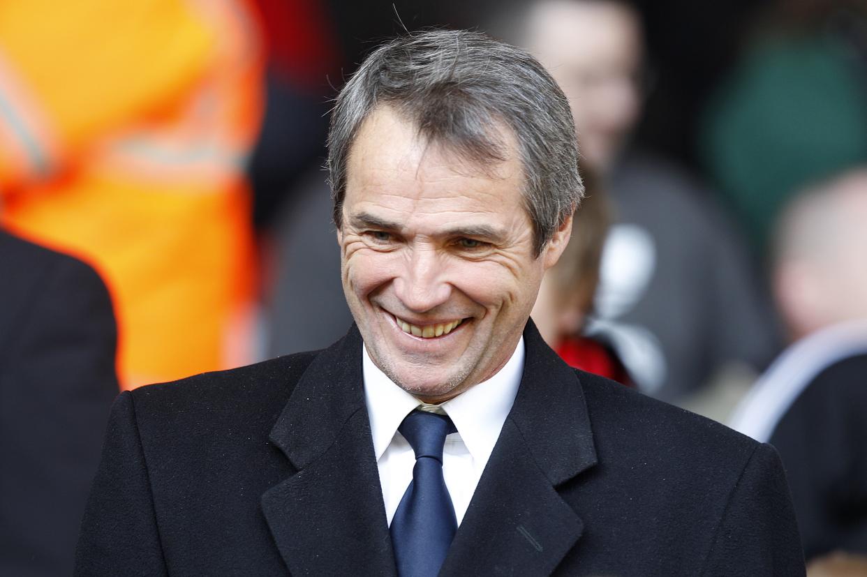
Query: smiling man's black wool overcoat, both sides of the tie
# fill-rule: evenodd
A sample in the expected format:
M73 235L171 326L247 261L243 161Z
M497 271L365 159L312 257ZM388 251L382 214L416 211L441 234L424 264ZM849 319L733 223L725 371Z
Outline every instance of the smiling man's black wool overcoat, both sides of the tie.
M771 447L571 369L530 322L442 575L804 574ZM124 392L76 574L393 575L357 328Z

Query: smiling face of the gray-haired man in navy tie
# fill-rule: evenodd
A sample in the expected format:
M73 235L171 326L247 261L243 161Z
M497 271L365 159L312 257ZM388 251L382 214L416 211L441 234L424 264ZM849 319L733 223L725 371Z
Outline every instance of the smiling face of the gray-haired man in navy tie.
M380 107L349 155L337 232L343 290L376 366L427 402L505 365L544 270L568 241L564 226L533 256L522 166L510 148L482 172Z

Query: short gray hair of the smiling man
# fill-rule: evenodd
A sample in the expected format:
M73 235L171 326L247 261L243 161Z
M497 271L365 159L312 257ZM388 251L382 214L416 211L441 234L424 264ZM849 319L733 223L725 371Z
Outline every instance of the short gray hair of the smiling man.
M420 136L477 165L506 159L497 126L511 129L536 256L583 198L569 102L542 65L480 32L428 30L375 49L337 95L328 167L338 228L350 148L379 104L411 120Z

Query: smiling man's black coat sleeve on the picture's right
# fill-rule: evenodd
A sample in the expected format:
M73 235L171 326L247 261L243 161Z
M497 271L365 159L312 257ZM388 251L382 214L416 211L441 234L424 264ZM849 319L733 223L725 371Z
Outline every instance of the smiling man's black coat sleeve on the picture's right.
M757 445L741 472L701 574L805 574L792 496L771 445Z

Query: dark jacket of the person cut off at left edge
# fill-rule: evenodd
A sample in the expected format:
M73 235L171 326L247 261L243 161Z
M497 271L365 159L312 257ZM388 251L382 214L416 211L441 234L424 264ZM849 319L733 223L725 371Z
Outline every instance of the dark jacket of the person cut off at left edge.
M2 231L0 279L0 574L65 575L118 392L114 314L93 269Z

